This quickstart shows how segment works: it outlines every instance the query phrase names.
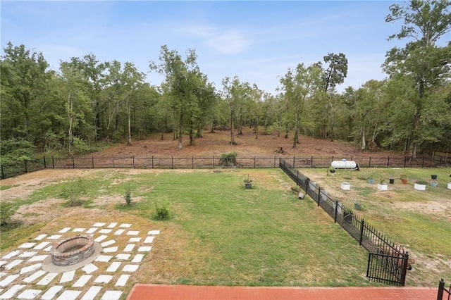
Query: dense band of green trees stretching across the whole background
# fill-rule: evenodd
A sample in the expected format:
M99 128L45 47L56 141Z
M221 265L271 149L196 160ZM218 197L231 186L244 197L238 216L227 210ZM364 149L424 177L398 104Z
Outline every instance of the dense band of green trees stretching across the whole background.
M155 132L172 132L178 149L186 135L194 144L204 130L215 129L230 130L234 144L244 126L253 127L256 138L290 138L293 147L299 135L307 135L402 151L413 159L421 152L451 151L451 42L443 43L450 3L391 5L385 22L403 25L388 38L406 44L388 49L381 66L388 77L342 93L336 91L347 76L342 53L275 74L278 94L270 94L236 76L215 87L194 49L181 55L163 45L144 71L128 61L98 61L95 54L51 70L41 52L8 43L0 73L1 163L37 153L85 154ZM149 71L163 75L161 85L146 82Z

